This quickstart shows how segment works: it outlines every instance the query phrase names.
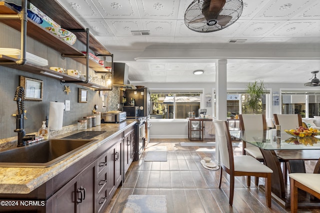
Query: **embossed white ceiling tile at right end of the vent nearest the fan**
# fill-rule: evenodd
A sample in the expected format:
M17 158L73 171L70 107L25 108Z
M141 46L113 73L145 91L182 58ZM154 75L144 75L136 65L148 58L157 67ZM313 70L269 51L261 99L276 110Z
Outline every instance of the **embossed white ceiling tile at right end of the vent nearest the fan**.
M151 36L173 36L176 20L143 19L142 24L145 30L150 31Z

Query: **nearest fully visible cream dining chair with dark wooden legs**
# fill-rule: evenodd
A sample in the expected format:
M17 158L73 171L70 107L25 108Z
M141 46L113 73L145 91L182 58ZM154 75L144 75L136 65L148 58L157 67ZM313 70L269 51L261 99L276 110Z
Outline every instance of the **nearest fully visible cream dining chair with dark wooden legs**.
M226 121L213 119L215 127L215 141L219 145L220 177L219 189L221 187L222 169L230 176L229 204L233 203L234 177L254 176L265 178L265 200L266 205L271 207L271 174L272 170L261 164L252 156L233 156L231 137Z

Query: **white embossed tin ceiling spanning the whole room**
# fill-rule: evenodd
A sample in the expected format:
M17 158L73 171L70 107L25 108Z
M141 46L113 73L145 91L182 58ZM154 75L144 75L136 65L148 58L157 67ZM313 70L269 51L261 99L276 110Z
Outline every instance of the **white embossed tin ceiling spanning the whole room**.
M185 26L192 0L58 1L129 65L132 83L214 82L216 59L229 82L304 83L320 69L318 0L243 0L240 18L210 33Z

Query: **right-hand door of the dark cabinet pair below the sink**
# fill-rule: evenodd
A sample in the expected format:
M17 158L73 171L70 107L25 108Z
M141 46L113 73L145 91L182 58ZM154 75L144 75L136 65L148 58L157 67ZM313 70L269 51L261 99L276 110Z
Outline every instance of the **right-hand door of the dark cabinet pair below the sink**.
M80 205L80 213L90 213L94 212L94 173L95 173L95 163L91 164L87 169L81 172L78 175L78 188L77 188L77 197L82 197L82 202ZM82 195L81 195L82 193Z

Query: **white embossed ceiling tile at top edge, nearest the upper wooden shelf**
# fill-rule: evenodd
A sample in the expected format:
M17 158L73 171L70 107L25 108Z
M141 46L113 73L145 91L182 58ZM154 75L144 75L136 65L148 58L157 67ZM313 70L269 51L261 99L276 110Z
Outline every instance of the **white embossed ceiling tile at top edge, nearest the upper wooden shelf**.
M101 18L100 12L91 0L63 0L62 5L76 18Z

